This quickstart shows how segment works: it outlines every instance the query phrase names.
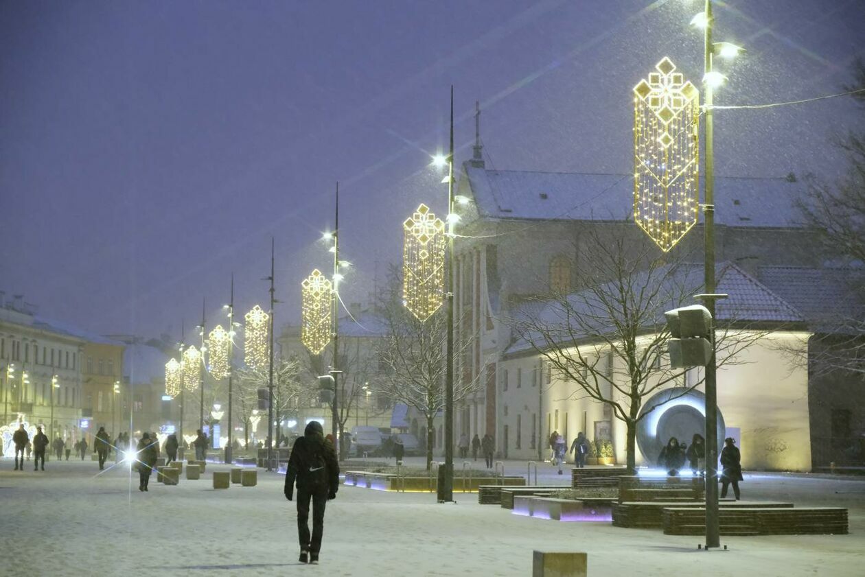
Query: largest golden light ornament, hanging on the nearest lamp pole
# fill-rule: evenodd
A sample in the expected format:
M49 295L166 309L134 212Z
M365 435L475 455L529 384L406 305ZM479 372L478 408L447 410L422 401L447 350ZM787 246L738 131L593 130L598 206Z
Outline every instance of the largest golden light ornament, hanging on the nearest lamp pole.
M634 87L634 221L667 252L697 221L700 91L669 58Z

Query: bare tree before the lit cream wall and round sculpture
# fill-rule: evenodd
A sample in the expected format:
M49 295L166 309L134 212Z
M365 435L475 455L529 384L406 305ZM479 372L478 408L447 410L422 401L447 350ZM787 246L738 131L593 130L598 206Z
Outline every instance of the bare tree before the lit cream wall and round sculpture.
M581 269L589 275L585 289L529 298L529 306L510 323L529 349L573 382L569 398L602 402L625 422L627 466L635 471L637 425L654 408L641 414L644 401L679 385L681 392L670 400L676 399L702 382L697 378L684 386L686 371L664 361L670 332L663 317L663 311L693 303L702 266L685 265L669 254L664 261L654 246L629 241L626 234L588 234L589 248L579 253ZM756 331L734 337L732 328L716 331L719 366L733 362L759 338Z

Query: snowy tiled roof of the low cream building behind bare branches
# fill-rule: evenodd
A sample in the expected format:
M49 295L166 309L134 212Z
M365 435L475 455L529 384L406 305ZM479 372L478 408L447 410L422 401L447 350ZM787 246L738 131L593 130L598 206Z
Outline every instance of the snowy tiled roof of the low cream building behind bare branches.
M793 306L772 292L766 285L760 283L759 280L754 279L753 276L749 275L739 266L728 262L718 263L715 271L717 292L729 295L728 298L719 300L716 305L715 317L719 320L736 323L778 324L804 322L804 317ZM676 292L700 292L702 290L702 275L702 264L686 264L676 266L676 269L670 274L657 274L655 278L659 279L658 282L663 283L664 286L664 290L659 292L659 294L672 295ZM640 287L650 284L649 280L638 279L634 282L634 286ZM615 294L615 289L611 288L610 293ZM594 315L590 310L593 301L597 300L596 298L592 298L591 295L592 293L588 291L575 292L567 298L572 314L573 311L577 311L577 313L585 311L588 314L584 315L583 318L590 319L595 324L593 331L586 333L583 335L584 337L591 337L592 334L598 334L607 330L612 332L613 330L612 325L607 322L609 319L605 318L603 311ZM563 327L562 319L566 317L566 311L563 309L561 303L559 301L548 301L540 310L536 308L537 301L528 303L527 305L529 305L528 308L522 307L522 310L517 312L515 316L517 323L519 323L520 318L524 319L527 315L531 315L539 324L549 327L552 336L555 338L556 333L559 331L556 327ZM665 322L663 311L676 308L676 306L680 305L672 301L657 306L658 314L653 324L663 325ZM646 329L650 330L651 326L647 324ZM564 339L569 337L570 334L569 331L561 330L560 336ZM580 335L578 334L576 337L579 338ZM530 333L528 338L537 343L544 340L540 334L535 333ZM520 353L531 348L529 340L521 337L509 346L505 354Z

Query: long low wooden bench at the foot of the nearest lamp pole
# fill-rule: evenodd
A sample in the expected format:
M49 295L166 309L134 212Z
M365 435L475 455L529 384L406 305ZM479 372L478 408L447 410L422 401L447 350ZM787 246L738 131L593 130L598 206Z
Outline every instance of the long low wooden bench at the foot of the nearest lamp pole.
M718 510L721 535L847 535L847 510L840 507ZM664 535L704 535L706 510L670 507L663 510Z

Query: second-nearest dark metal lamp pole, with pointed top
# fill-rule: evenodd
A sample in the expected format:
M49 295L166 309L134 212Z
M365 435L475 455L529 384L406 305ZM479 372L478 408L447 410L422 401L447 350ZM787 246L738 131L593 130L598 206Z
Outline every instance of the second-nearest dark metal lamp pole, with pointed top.
M445 371L445 486L440 495L453 501L453 85L451 146L447 163L447 369Z

